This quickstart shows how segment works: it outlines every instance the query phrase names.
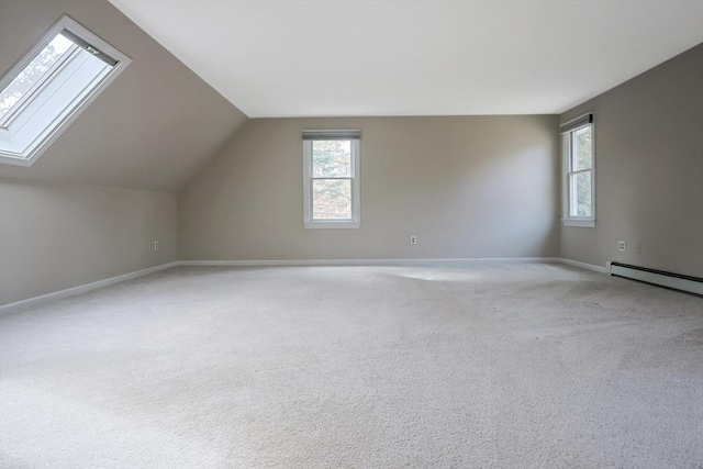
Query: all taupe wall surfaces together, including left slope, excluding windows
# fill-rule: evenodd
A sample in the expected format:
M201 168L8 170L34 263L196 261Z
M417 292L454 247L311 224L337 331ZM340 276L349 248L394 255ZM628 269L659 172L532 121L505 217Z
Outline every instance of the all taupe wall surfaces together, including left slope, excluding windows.
M596 113L598 221L560 228L558 116L247 122L105 0L0 1L0 72L65 12L133 63L32 168L0 166L2 304L168 263L177 249L181 259L561 254L703 276L703 45L561 115ZM302 226L300 132L312 127L362 131L359 230ZM178 204L159 192L178 190Z

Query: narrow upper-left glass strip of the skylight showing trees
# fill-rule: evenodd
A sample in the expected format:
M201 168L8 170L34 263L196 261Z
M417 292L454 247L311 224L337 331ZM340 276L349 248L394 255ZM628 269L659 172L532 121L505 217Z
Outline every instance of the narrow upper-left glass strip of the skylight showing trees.
M44 74L74 45L58 34L44 49L0 92L0 119L20 101Z

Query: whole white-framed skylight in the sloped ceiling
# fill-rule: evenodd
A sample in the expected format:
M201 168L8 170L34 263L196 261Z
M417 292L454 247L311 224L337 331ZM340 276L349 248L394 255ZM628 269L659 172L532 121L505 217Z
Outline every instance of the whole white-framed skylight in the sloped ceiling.
M130 62L62 16L0 79L0 163L31 166Z

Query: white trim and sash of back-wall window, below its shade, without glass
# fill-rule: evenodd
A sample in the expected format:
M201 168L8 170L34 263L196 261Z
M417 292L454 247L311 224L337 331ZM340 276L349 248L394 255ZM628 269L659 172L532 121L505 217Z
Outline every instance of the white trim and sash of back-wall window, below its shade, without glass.
M326 131L333 132L333 131ZM320 138L323 139L323 138ZM303 226L305 228L358 228L361 225L360 164L359 139L350 138L352 150L352 219L350 220L313 220L312 217L312 139L303 141ZM334 179L334 178L317 178Z

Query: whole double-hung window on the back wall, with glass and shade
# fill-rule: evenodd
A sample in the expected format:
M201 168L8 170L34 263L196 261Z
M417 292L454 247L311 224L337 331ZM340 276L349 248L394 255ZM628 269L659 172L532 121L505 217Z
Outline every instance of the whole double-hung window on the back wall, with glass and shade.
M360 132L303 131L303 223L358 228Z

